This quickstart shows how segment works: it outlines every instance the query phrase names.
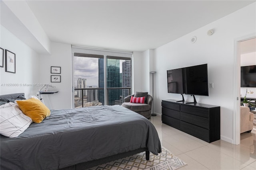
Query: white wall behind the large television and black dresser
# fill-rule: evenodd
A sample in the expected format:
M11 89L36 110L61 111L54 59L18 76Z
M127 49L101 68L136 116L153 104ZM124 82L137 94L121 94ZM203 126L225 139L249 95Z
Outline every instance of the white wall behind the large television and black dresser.
M166 70L208 64L208 82L214 83L209 88L209 96L196 96L198 103L220 106L221 139L233 143L233 117L235 98L233 92L233 72L235 39L255 34L256 14L253 3L220 20L214 21L175 41L154 50L154 66L157 74L154 84L154 111L161 113L161 100L181 100L179 94L167 93ZM214 34L207 35L209 29ZM196 36L197 41L190 39ZM193 101L189 95L186 101Z

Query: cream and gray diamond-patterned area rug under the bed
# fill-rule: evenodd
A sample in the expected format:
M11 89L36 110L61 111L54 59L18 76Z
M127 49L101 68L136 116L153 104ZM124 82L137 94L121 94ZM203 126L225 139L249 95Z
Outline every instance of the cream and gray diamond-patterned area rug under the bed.
M186 163L162 147L162 153L158 155L150 152L149 160L146 160L145 152L141 152L88 170L175 170L184 165Z

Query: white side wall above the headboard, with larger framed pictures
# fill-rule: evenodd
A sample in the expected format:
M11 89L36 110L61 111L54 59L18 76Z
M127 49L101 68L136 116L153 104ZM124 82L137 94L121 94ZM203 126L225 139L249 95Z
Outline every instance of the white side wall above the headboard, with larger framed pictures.
M36 96L38 87L30 85L39 83L40 80L38 76L40 69L39 55L2 25L0 46L2 49L7 49L16 55L15 74L5 72L5 64L4 67L0 67L0 94L24 92L26 98ZM16 86L8 86L12 84Z

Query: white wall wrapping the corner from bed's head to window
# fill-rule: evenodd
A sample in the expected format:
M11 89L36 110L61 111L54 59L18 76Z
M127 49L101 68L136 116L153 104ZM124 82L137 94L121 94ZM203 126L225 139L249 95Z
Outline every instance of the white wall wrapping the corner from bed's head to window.
M46 106L50 109L72 108L72 58L71 45L51 43L51 55L38 55L15 35L1 25L1 48L16 54L16 73L5 72L0 67L0 94L25 93L25 97L36 96L42 84L51 83L50 67L61 67L61 82L51 83L59 90L52 95L43 95ZM4 61L5 62L5 61ZM8 86L15 84L16 86ZM26 84L26 85L25 85ZM36 85L35 85L36 84ZM39 97L39 96L38 96Z

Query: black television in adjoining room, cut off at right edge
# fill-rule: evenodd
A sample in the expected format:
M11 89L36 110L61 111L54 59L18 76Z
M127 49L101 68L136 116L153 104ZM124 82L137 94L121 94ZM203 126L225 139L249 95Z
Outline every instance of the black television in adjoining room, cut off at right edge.
M241 66L241 87L256 87L256 65Z

